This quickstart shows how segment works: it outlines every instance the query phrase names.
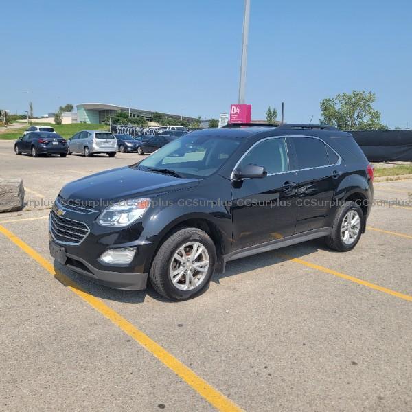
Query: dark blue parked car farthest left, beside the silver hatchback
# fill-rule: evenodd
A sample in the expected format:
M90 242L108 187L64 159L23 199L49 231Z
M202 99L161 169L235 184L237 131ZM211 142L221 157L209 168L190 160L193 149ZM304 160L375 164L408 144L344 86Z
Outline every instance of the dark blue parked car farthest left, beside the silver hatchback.
M67 141L55 132L29 132L14 144L16 155L29 153L32 157L40 155L60 155L66 157Z

